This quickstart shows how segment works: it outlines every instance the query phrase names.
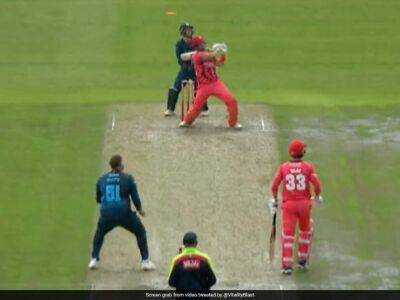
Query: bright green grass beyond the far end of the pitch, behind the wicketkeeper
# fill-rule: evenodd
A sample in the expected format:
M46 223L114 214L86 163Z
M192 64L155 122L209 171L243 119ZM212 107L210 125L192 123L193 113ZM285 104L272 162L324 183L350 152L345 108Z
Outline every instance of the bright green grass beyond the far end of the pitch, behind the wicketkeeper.
M178 26L229 46L220 74L243 103L398 103L400 2L5 1L0 99L165 101ZM176 11L176 17L166 11ZM15 20L20 20L16 22Z

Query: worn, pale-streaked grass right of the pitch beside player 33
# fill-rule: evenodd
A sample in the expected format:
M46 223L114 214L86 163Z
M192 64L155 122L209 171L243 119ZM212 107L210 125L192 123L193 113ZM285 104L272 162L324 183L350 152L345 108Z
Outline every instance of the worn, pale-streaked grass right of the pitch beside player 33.
M394 238L400 225L399 115L400 106L274 107L281 158L287 159L290 140L304 140L306 159L316 164L323 184L326 202L314 210L316 283L328 280L342 288L400 284L400 245Z

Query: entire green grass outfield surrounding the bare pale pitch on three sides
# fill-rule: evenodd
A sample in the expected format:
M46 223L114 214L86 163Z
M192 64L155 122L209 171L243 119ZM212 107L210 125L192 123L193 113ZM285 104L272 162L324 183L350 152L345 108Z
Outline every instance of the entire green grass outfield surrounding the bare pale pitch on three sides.
M3 0L0 7L0 236L7 241L0 288L84 288L107 105L164 101L183 21L228 44L220 74L241 103L273 105L282 159L289 138L310 144L327 199L316 212L325 239L316 249L332 237L366 262L396 258L397 125L381 144L368 141L374 124L399 116L400 2ZM346 124L354 132L338 134ZM308 134L318 126L332 139ZM354 232L341 240L327 229L337 224ZM335 267L322 256L315 263Z

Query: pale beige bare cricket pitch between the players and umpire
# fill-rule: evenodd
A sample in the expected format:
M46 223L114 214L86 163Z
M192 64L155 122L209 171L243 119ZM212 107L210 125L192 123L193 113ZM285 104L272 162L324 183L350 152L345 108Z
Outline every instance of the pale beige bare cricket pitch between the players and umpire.
M105 239L100 268L89 273L93 289L168 288L169 263L187 230L213 261L215 288L281 288L278 261L268 261L274 125L268 106L239 109L244 129L235 131L225 128L225 107L213 103L210 116L188 129L178 128L179 116L163 117L159 104L111 108L104 161L121 154L136 179L157 270L142 272L135 238L116 229Z

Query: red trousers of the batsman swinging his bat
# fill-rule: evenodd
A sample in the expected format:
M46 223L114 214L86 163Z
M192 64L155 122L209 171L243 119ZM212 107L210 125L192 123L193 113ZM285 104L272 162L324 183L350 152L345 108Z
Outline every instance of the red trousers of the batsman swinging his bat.
M229 112L228 125L234 126L238 119L237 101L233 98L225 84L220 80L198 87L193 105L186 114L184 121L189 125L192 124L201 113L204 103L206 103L210 96L214 96L225 103Z

